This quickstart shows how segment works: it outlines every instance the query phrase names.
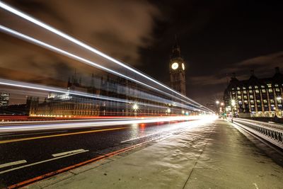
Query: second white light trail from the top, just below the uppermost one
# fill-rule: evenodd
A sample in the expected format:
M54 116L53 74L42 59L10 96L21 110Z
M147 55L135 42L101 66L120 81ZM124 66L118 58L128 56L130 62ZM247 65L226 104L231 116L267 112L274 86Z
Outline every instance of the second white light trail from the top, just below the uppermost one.
M149 86L149 85L147 85L147 84L144 84L144 83L142 83L141 81L138 81L138 80L136 80L136 79L132 79L132 78L129 77L129 76L125 76L124 74L120 74L120 73L117 72L117 71L114 71L114 70L112 70L112 69L108 69L108 68L106 68L106 67L103 67L103 66L101 66L100 64L97 64L97 63L95 63L95 62L91 62L91 61L89 61L88 59L84 59L84 58L79 57L79 56L77 56L77 55L74 55L74 54L72 54L72 53L70 53L70 52L61 50L61 49L59 49L59 48L57 48L57 47L54 47L54 46L52 46L52 45L49 45L49 44L47 44L47 43L45 43L45 42L42 42L42 41L40 41L40 40L36 40L35 38L31 38L30 36L24 35L23 33L18 33L17 31L11 30L10 28L6 28L6 27L3 26L3 25L0 25L0 30L3 30L3 31L6 32L6 33L10 33L10 34L16 35L16 36L19 37L19 38L23 38L24 40L28 40L28 41L30 41L30 42L33 42L33 43L35 43L35 44L37 44L37 45L40 45L40 46L42 46L42 47L45 47L45 48L47 48L47 49L49 49L49 50L52 50L52 51L54 51L54 52L59 52L60 54L66 55L67 57L71 57L71 58L73 58L73 59L77 59L77 60L79 60L80 62L85 62L86 64L90 64L91 66L98 67L98 68L103 69L103 70L105 70L105 71L108 71L108 72L110 72L110 73L112 73L112 74L116 74L116 75L118 75L118 76L121 76L121 77L124 77L124 78L126 78L126 79L132 80L132 81L134 81L134 82L136 82L136 83L138 83L138 84L141 84L141 85L144 85L144 86L149 87L149 88L151 88L151 89L154 89L155 91L158 91L158 92L161 92L161 93L165 93L167 96L172 96L171 94L166 93L165 91L161 91L161 90L159 90L159 89L157 89L157 88L154 88L154 87L152 87L152 86ZM29 86L29 87L32 87L32 86ZM37 87L37 88L33 88L33 89L42 90L41 87L40 87L40 88ZM46 90L45 90L45 91L46 91ZM55 91L55 92L57 92L57 91ZM173 96L173 97L176 98L175 96ZM178 98L178 100L184 101L183 99L180 99L180 98ZM185 103L188 103L188 104L190 104L190 105L196 106L195 104L189 103L189 102L187 102L187 101L185 101ZM200 109L202 109L202 110L210 111L210 110L208 110L208 109L205 108L205 107L198 107L198 108L200 108Z

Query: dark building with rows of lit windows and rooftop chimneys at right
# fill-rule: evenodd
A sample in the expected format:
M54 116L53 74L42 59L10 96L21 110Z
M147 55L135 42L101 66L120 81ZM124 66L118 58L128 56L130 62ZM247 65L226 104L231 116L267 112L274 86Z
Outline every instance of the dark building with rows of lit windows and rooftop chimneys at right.
M235 74L224 92L226 112L239 116L241 113L251 117L282 118L283 75L279 67L269 78L259 79L254 71L250 71L250 78L239 81Z

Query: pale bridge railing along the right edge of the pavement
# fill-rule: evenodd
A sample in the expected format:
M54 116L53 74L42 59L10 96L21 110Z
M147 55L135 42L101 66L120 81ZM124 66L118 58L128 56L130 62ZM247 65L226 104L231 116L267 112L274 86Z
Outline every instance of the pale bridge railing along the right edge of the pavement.
M229 121L283 149L283 125L241 118Z

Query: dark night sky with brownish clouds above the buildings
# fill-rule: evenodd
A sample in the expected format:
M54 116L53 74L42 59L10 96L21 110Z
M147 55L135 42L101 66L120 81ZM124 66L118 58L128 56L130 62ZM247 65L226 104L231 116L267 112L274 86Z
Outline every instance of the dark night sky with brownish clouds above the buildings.
M248 79L250 69L272 76L283 65L283 1L5 2L165 84L176 35L187 64L187 96L204 104L221 98L232 72L239 79ZM0 40L1 68L15 71L24 60L21 71L36 65L37 75L44 68L62 80L74 71L66 59L41 55L32 45L15 57L23 42L6 34ZM43 66L50 56L58 67Z

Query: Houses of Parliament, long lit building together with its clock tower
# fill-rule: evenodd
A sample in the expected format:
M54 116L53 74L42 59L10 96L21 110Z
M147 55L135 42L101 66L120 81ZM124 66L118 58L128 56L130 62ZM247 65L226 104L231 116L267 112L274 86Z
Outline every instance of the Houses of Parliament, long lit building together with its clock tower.
M185 95L185 61L180 55L177 40L173 45L169 60L171 88ZM168 101L171 98L160 96L148 88L138 86L132 81L117 76L94 76L92 74L88 86L81 84L75 74L69 78L67 91L79 91L88 94L79 96L74 93L49 93L45 101L28 97L30 116L42 117L86 117L100 115L168 115ZM85 84L86 85L86 84ZM103 100L103 98L122 99L119 101ZM126 103L125 103L126 102ZM135 104L135 102L141 104ZM142 105L144 104L144 105ZM149 106L150 104L150 106ZM169 104L170 105L170 104ZM175 108L176 109L176 108ZM177 110L175 113L182 113Z

